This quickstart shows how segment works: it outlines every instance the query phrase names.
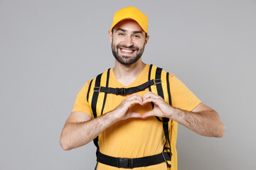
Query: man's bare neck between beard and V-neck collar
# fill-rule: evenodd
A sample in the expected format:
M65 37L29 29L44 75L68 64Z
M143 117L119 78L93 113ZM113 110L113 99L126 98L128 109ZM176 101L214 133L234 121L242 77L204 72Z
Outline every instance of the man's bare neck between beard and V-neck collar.
M128 86L139 76L145 66L146 64L141 59L130 65L124 65L115 60L114 76L121 84Z

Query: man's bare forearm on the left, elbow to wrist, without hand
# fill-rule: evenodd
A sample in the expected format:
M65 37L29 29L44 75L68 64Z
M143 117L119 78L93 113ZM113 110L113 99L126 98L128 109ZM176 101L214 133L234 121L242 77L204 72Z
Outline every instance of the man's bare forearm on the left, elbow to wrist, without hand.
M100 135L102 131L114 124L116 118L112 112L80 123L66 123L60 137L60 145L64 150L86 145Z

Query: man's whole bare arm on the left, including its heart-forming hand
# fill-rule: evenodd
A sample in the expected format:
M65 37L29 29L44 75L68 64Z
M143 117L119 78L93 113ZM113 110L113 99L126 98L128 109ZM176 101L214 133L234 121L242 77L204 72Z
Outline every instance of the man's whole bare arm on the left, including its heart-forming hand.
M70 113L60 135L61 147L64 150L81 147L119 120L142 118L141 114L130 111L129 107L134 103L142 105L142 97L132 94L125 98L113 111L95 119L91 119L89 115L82 112Z

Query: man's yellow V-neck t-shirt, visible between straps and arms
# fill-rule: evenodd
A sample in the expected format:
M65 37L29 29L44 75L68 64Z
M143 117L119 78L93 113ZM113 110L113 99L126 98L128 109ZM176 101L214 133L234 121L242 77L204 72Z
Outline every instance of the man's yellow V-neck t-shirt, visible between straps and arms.
M112 88L129 88L133 86L139 86L148 81L149 65L146 64L142 72L139 74L129 86L124 86L117 81L114 77L112 69L110 69L110 81L109 87ZM171 91L171 103L175 108L181 108L186 111L192 111L196 108L201 101L180 81L174 74L169 74L170 91ZM87 90L90 81L87 81L85 86L80 90L77 98L75 99L75 105L73 111L79 111L90 115L93 115L90 110L89 103L87 102ZM137 94L143 96L148 92L139 91ZM129 95L127 95L129 96ZM115 94L107 94L107 100L103 114L110 112L116 108L127 96L117 96ZM144 114L152 109L151 103L146 103L144 106L135 104L131 107L131 110L137 113ZM170 127L170 126L169 126ZM175 139L176 140L176 139ZM146 119L130 118L127 120L121 120L114 125L107 128L99 135L99 146L102 154L107 154L111 157L125 157L125 158L137 158L147 157L154 154L159 154L164 148L164 130L163 123L156 119L156 117L149 117ZM176 148L171 148L172 153L176 154ZM174 156L173 156L174 157ZM177 169L176 155L175 159L172 159L171 170ZM98 164L97 169L116 170L118 168L113 166L107 166L105 164ZM151 169L168 169L166 163L156 164L153 166L135 168L137 170L151 170Z

